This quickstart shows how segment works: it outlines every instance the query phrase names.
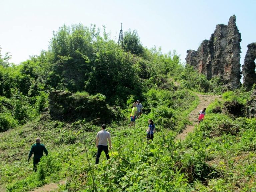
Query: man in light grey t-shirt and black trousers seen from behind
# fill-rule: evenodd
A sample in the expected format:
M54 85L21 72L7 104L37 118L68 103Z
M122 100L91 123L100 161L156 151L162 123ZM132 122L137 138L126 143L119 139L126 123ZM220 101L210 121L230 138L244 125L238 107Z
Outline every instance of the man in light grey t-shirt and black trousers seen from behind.
M110 150L111 149L110 133L106 131L106 125L103 124L101 125L101 131L99 131L96 136L96 147L98 148L98 151L97 151L95 164L99 164L100 155L102 151L105 152L107 160L109 159L107 140L109 143L109 150Z

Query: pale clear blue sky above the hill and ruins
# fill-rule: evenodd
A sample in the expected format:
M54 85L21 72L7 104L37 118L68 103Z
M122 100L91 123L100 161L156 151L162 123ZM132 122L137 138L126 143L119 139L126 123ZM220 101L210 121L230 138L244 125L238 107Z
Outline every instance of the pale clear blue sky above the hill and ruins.
M0 46L19 64L47 50L52 32L64 23L105 25L118 40L123 22L124 31L138 31L144 46L161 46L163 53L175 49L184 62L187 49L196 50L233 14L242 34L243 64L246 46L256 42L256 0L1 0Z

